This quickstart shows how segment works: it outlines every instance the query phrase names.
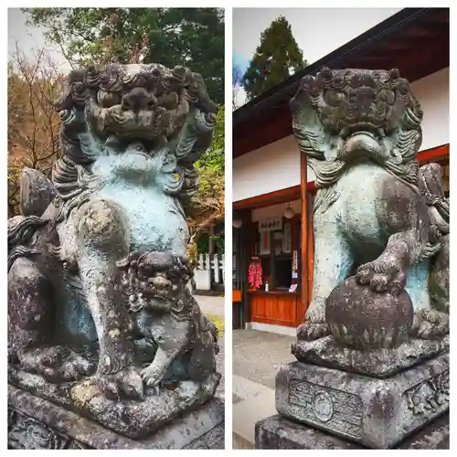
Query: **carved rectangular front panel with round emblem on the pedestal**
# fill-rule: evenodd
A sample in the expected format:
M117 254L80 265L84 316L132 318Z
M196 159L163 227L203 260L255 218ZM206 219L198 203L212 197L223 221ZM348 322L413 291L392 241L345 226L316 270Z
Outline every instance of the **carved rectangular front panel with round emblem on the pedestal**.
M298 420L355 439L362 436L362 399L354 394L292 378L288 403Z

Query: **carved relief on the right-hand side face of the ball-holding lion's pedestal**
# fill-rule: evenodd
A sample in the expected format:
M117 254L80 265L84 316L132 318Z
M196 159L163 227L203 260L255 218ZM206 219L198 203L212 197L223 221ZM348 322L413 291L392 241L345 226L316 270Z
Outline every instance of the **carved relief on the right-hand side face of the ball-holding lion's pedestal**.
M414 415L436 412L446 405L449 407L449 370L405 390L403 396Z

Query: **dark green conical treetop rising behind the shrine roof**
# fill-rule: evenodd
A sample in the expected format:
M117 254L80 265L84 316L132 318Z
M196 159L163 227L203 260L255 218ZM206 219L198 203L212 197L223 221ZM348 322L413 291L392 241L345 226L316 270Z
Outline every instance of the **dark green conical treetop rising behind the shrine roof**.
M248 99L277 86L306 65L291 25L285 17L278 17L260 35L260 45L242 78Z

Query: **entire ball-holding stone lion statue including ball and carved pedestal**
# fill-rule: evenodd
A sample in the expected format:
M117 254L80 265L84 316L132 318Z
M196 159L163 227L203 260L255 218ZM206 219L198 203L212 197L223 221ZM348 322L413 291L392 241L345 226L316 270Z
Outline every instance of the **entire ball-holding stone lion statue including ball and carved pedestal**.
M396 69L322 69L291 104L316 175L313 300L276 377L287 421L256 440L447 447L449 200L440 165L418 165L419 102Z

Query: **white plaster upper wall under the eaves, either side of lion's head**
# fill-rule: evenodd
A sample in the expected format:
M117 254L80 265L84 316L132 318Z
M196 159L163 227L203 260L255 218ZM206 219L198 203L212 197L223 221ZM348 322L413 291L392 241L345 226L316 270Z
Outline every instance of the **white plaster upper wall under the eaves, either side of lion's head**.
M413 82L411 89L424 112L420 150L449 143L449 69ZM307 178L314 181L309 166ZM298 185L300 153L292 135L233 161L233 201Z

